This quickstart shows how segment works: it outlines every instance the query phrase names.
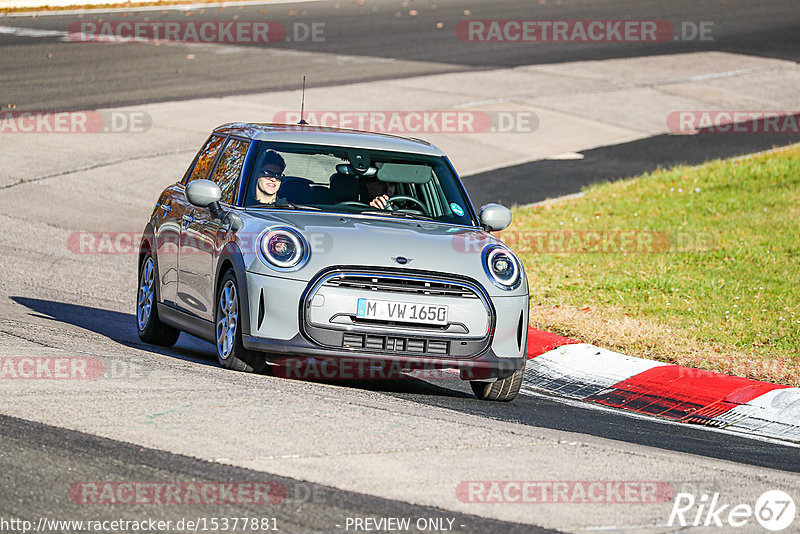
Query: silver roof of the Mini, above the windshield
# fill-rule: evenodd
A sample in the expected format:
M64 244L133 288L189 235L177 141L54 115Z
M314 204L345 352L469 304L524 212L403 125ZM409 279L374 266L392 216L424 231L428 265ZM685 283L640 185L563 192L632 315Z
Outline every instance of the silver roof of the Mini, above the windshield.
M444 156L441 149L421 139L306 124L233 122L218 126L214 129L214 133L238 135L253 140L276 143L303 143Z

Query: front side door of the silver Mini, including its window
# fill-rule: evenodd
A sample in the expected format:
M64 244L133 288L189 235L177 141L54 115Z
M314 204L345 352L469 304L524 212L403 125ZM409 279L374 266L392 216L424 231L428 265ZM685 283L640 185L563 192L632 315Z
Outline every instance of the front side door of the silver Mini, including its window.
M230 138L210 179L222 190L224 209L236 205L249 142ZM181 226L178 300L182 308L208 321L214 319L214 258L220 221L207 208L187 206Z

